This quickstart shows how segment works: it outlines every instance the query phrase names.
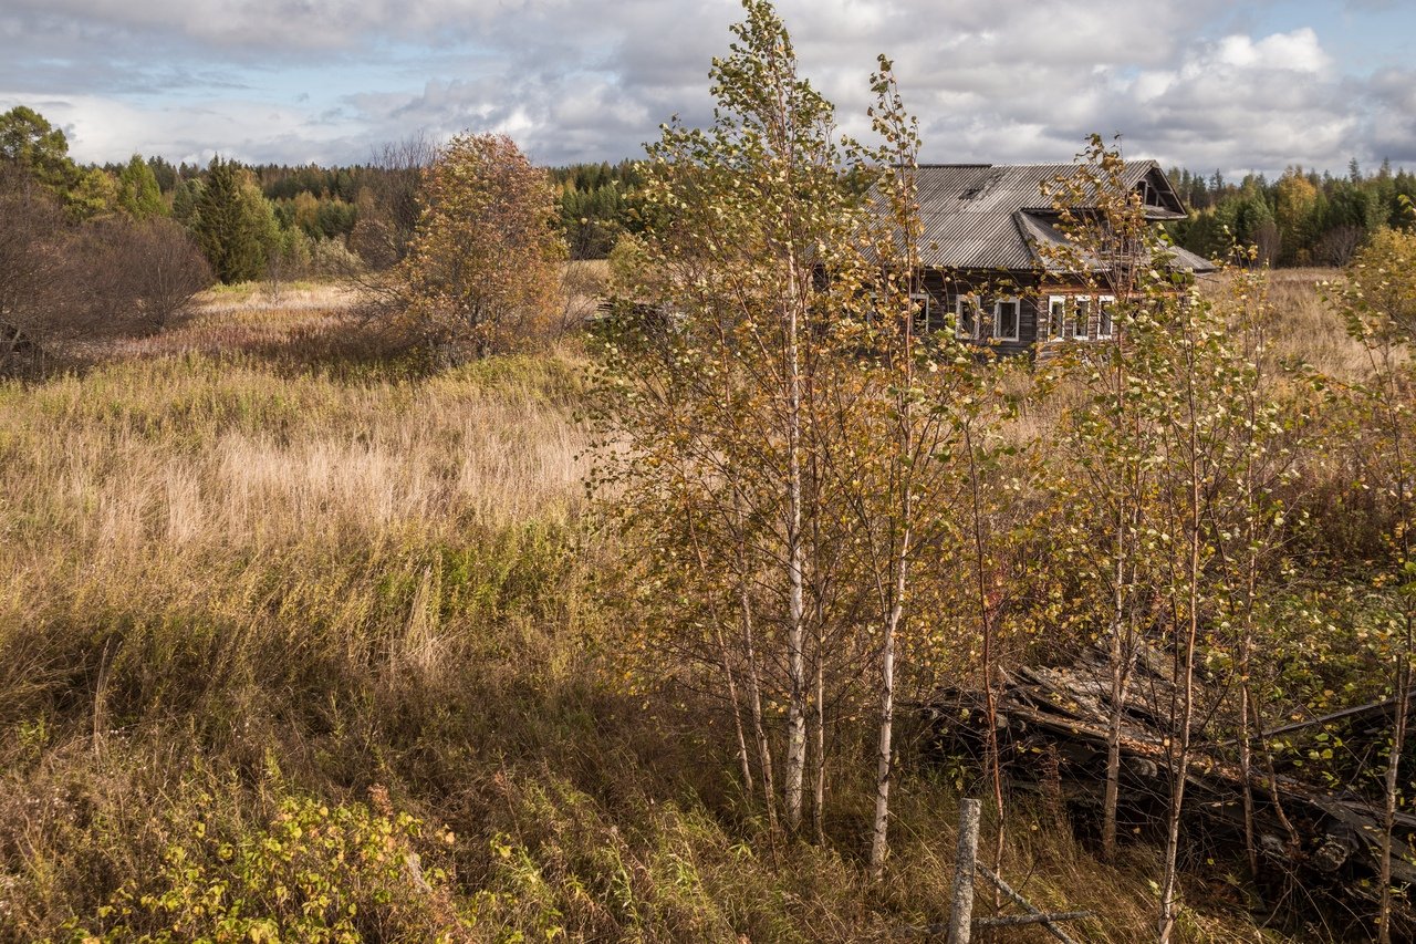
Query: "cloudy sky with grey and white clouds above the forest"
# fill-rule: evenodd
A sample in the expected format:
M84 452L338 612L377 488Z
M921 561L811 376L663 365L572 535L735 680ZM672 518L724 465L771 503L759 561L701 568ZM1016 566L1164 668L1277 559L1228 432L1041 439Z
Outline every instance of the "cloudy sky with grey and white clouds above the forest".
M1089 132L1195 170L1416 169L1413 0L780 0L864 130L895 60L936 162L1068 160ZM413 132L539 163L641 153L711 115L735 0L3 0L0 111L85 162L354 163Z

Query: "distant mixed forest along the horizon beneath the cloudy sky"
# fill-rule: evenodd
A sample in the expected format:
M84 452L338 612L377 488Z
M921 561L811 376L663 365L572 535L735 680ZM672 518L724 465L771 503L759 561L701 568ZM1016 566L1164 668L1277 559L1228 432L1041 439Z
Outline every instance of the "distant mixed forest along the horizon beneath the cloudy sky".
M409 180L416 167L406 162L320 167L238 164L217 157L200 166L135 154L127 163L79 166L67 150L62 132L38 113L17 108L0 115L0 156L30 167L75 221L170 215L200 240L197 207L212 173L239 176L231 186L246 189L244 213L252 217L249 230L259 234L259 245L249 252L251 264L234 271L214 261L224 281L258 278L269 258L287 259L282 268L296 272L319 269L321 259L338 262L347 249L367 257L361 218L370 230L375 218L416 215L411 203L416 180ZM387 153L398 153L398 147ZM432 150L422 153L426 157ZM623 234L641 230L639 162L581 163L547 173L572 258L605 258ZM1364 173L1352 160L1344 176L1290 167L1273 181L1249 174L1235 183L1219 172L1181 167L1168 173L1189 207L1188 218L1168 224L1177 244L1211 258L1226 255L1232 245L1253 245L1259 261L1274 266L1347 265L1372 234L1410 227L1403 200L1416 201L1416 174L1393 170L1389 162ZM401 220L399 227L411 231L413 223Z

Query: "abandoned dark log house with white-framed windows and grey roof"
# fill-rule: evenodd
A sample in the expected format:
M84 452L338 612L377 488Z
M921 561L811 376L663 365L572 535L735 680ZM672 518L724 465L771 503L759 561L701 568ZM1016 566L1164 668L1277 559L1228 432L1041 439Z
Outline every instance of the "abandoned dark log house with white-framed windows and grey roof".
M1044 187L1076 170L1075 164L919 167L925 272L918 303L929 330L950 330L1004 354L1045 354L1052 344L1113 336L1112 296L1087 289L1083 275L1068 272L1048 251L1066 237ZM1185 207L1155 162L1129 163L1121 183L1140 194L1148 221L1184 218ZM1214 271L1178 247L1171 265Z

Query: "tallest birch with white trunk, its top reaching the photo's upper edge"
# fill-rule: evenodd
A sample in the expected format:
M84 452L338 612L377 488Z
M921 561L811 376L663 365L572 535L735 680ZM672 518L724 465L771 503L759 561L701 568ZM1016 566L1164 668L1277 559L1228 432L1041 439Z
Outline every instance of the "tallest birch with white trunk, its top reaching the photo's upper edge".
M813 693L809 666L830 656L809 646L833 618L813 587L826 583L817 568L826 541L840 540L811 462L827 428L813 417L827 374L844 370L827 354L837 300L851 295L823 275L851 269L841 255L860 207L843 177L852 156L835 137L831 105L797 74L772 7L743 7L731 54L709 74L714 125L666 125L649 149L651 223L639 278L622 291L650 305L602 327L602 415L626 446L623 462L606 454L605 469L637 493L681 489L714 523L732 578L700 588L725 597L719 619L735 614L724 632L743 669L759 775L797 829L809 717L826 697ZM647 459L664 451L680 468L677 486ZM651 533L663 536L664 524L653 522ZM671 530L677 537L661 546L683 541ZM824 676L824 665L817 670ZM766 727L777 717L773 760Z

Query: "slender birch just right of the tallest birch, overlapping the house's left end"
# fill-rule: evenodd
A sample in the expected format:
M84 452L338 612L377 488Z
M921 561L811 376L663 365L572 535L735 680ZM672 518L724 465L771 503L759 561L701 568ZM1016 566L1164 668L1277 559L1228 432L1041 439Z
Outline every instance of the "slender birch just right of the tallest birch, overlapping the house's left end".
M889 852L895 781L898 642L916 612L920 549L937 547L946 533L957 533L954 468L946 456L960 445L970 458L978 455L971 435L986 425L981 415L987 397L980 395L978 381L986 371L973 352L961 350L947 333L919 336L926 329L919 310L925 298L915 181L919 133L885 57L871 84L877 95L871 118L882 143L858 167L875 180L867 200L871 225L858 255L865 268L854 279L840 265L833 271L834 278L865 289L857 302L860 310L848 298L841 299L841 343L830 354L854 370L830 390L833 395L820 414L835 432L821 442L828 469L824 488L854 512L851 541L860 550L852 570L872 604L864 614L879 634L875 812L869 832L869 872L879 880ZM977 502L971 507L977 512ZM976 537L981 549L984 539ZM980 587L983 580L980 566ZM981 629L987 651L987 612ZM1001 808L998 812L1001 816Z

